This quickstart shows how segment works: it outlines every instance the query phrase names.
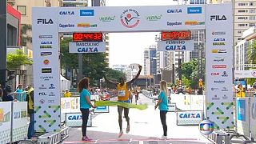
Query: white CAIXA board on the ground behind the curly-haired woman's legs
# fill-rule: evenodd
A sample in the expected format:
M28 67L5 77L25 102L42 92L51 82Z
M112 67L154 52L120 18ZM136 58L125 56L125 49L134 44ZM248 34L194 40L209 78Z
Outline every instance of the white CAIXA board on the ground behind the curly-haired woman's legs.
M66 126L69 126L69 127L82 126L82 114L81 113L66 113ZM89 114L87 126L92 126L91 114Z

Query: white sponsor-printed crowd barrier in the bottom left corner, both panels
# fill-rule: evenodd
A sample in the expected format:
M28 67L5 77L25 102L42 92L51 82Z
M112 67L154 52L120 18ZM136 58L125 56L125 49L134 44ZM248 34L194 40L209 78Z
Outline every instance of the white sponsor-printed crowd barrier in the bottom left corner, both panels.
M28 123L27 102L0 102L0 143L25 139Z

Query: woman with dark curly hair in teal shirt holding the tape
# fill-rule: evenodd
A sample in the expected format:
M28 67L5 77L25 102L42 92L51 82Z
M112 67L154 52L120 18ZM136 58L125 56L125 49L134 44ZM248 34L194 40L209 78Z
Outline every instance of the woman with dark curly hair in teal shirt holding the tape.
M96 108L90 102L90 92L89 92L89 78L82 78L78 83L78 91L80 93L80 110L82 113L82 141L90 141L92 139L88 138L86 135L87 122L90 113L90 107Z

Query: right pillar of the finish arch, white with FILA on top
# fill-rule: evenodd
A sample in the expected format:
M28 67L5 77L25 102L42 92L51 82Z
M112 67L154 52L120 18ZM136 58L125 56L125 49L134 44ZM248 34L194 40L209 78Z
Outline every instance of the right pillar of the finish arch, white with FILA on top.
M206 6L206 116L215 129L234 126L232 4Z

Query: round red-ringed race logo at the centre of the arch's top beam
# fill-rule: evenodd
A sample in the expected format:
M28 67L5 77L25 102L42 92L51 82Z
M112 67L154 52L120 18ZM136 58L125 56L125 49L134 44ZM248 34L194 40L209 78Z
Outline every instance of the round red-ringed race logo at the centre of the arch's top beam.
M138 26L140 22L139 16L140 15L138 14L137 10L124 10L120 16L122 25L126 26L127 28L134 28L135 26Z

